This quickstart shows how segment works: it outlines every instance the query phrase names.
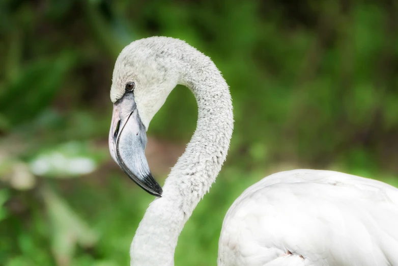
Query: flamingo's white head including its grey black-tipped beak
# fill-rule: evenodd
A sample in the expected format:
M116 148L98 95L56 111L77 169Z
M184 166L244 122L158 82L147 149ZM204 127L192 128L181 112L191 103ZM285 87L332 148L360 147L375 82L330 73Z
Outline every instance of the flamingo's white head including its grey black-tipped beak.
M141 188L154 196L162 189L145 156L149 123L178 83L178 69L167 43L152 37L132 42L119 55L112 75L113 114L109 150L113 160ZM182 42L182 41L180 41Z

